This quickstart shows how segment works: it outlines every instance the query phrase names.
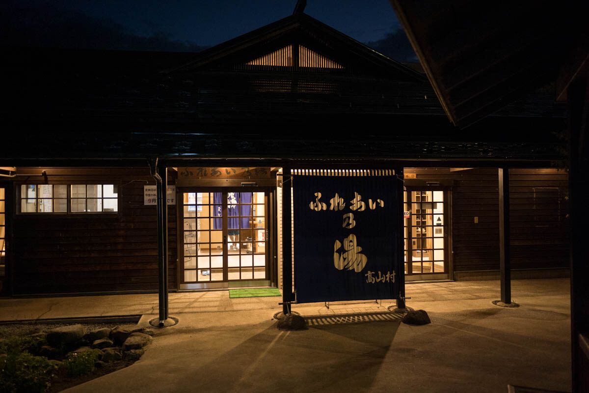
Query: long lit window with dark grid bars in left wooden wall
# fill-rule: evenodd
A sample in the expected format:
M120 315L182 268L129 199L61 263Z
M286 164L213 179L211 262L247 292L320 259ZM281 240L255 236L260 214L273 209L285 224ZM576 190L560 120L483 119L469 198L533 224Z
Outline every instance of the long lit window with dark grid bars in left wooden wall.
M22 184L21 213L118 211L115 184Z

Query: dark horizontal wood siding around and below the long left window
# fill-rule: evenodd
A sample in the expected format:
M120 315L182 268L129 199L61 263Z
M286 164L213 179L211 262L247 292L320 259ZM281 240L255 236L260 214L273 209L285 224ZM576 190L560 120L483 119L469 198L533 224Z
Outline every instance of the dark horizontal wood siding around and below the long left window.
M143 186L155 184L149 170L46 170L50 184L118 184L120 212L17 214L14 293L156 290L156 207L143 204ZM168 214L169 282L176 288L176 206L168 206Z

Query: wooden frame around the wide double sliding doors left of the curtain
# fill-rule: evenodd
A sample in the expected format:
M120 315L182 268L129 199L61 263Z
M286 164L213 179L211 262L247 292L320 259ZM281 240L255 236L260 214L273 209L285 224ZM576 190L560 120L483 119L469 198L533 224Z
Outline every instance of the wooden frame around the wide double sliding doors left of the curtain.
M250 279L250 280L229 280L228 279L228 266L226 263L226 257L229 256L227 253L227 241L226 237L223 238L223 280L222 281L209 281L209 282L198 282L198 283L185 283L184 282L184 193L188 192L209 192L209 193L226 193L228 191L233 192L264 192L264 210L266 216L266 278L264 279ZM177 208L177 255L176 260L176 272L178 290L195 290L195 289L220 289L220 288L239 288L247 286L271 286L274 283L273 272L276 272L277 266L273 266L276 262L274 254L273 243L276 237L276 228L274 226L273 212L275 210L275 194L276 189L272 187L259 187L259 186L226 186L226 187L210 187L210 186L181 186L176 187L176 204ZM227 201L223 200L223 233L226 235L226 219L227 219Z

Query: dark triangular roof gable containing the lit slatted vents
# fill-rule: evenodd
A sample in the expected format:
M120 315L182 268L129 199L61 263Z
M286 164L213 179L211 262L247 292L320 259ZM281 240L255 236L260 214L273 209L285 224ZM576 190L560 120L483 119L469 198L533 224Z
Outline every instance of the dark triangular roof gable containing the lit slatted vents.
M426 78L306 14L294 14L201 52L170 73L202 71L298 71Z

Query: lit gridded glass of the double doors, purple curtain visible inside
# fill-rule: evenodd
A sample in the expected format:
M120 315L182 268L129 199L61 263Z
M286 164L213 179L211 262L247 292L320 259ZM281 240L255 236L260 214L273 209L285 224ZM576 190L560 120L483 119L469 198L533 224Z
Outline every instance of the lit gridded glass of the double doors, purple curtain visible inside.
M267 278L266 194L183 193L184 283Z

